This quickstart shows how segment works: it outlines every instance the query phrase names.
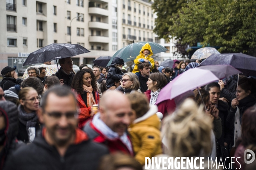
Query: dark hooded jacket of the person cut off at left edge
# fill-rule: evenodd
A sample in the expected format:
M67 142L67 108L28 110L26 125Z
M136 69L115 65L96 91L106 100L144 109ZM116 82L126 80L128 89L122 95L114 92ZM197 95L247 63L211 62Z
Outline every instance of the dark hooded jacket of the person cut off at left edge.
M17 135L19 129L17 106L9 101L1 101L0 111L3 114L6 121L5 145L3 150L0 151L0 170L2 170L5 161L9 159L9 156L17 149L17 147L23 145L23 143L17 142L17 140L15 140L15 136Z

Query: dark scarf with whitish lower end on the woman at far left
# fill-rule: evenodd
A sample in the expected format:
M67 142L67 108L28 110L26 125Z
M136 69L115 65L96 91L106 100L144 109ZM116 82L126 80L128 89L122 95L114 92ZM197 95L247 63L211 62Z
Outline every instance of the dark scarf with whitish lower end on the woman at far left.
M26 131L29 136L29 142L32 142L35 139L35 125L38 121L38 116L36 112L26 113L22 105L18 106L19 111L19 121L26 126Z

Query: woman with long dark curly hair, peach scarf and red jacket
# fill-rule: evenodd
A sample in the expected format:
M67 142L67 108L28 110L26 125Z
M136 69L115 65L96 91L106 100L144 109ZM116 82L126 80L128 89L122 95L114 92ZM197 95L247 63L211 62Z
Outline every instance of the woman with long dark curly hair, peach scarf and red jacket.
M76 73L71 88L76 92L76 100L80 108L78 127L82 128L91 116L93 105L99 105L96 77L90 69L83 69Z

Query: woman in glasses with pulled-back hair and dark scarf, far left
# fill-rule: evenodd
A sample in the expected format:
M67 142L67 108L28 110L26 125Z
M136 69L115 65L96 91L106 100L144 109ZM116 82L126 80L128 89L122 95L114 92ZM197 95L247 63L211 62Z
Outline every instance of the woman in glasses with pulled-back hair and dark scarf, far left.
M34 88L22 88L19 92L19 132L17 139L30 143L35 139L36 131L41 129L37 111L39 109L38 92Z

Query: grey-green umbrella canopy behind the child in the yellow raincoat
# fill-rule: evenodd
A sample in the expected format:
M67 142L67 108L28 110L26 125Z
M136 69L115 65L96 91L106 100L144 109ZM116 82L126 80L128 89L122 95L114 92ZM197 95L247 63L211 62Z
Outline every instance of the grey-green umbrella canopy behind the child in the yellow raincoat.
M145 45L145 43L147 43L147 42L131 43L130 45L127 45L126 47L121 48L113 55L111 60L108 62L107 66L109 66L111 64L113 58L115 58L115 57L121 57L124 60L124 62L128 62L128 61L136 59L137 55L140 54L140 50L141 50L142 46ZM157 44L155 42L148 42L148 43L151 46L153 54L169 51L167 48L164 48L162 45Z

